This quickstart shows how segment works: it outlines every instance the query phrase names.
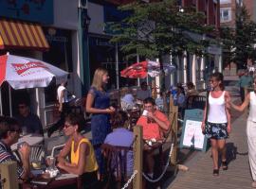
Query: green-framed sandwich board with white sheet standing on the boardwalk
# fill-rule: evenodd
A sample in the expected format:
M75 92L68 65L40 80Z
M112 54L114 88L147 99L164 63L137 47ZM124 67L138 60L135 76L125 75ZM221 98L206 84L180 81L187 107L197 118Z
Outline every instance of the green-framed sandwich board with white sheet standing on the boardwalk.
M207 149L207 138L202 133L201 124L204 111L200 109L186 110L180 148L190 147L202 151Z

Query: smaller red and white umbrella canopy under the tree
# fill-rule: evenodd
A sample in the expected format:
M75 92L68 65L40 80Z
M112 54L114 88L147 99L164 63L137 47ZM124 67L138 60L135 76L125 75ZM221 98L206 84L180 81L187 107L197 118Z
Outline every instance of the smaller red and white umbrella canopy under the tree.
M176 70L175 66L171 64L163 64L163 69L166 74L172 74ZM129 78L145 78L148 75L158 77L160 73L160 63L152 60L134 63L120 72L121 77Z

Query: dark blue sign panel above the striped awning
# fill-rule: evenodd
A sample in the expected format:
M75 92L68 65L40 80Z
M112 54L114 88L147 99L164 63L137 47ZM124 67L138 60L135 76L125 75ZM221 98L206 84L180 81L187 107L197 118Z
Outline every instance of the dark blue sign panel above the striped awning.
M0 16L53 24L52 0L0 0Z

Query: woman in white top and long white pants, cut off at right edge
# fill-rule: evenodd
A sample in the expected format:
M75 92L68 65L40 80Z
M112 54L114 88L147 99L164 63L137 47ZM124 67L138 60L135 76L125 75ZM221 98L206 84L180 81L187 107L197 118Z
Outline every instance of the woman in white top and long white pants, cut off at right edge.
M243 104L236 106L230 101L230 105L239 112L243 112L249 105L249 114L247 117L248 159L253 179L251 186L256 188L256 77L253 78L253 92L247 94Z

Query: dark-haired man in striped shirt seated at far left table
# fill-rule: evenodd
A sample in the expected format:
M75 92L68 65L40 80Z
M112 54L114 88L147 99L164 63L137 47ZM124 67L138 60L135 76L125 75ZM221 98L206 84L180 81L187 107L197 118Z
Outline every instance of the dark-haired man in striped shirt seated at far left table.
M17 120L11 117L0 116L0 163L16 162L18 180L27 180L30 176L30 147L27 143L24 143L18 149L21 162L16 159L10 149L10 146L18 142L20 132L21 129Z

